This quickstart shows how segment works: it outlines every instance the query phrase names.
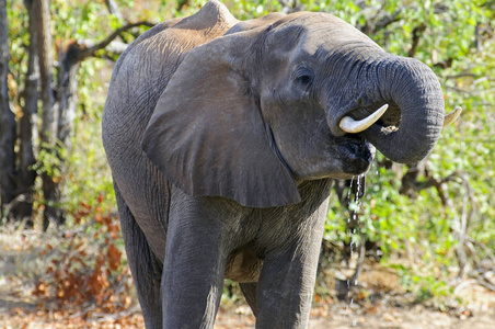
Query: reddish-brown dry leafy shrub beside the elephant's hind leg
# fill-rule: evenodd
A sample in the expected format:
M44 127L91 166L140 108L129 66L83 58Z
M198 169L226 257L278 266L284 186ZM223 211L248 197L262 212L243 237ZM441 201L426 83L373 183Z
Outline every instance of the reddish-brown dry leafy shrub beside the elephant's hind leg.
M59 306L88 307L95 304L101 311L128 308L130 275L122 252L120 227L115 216L96 205L81 203L76 218L78 228L66 231L58 246L46 242L39 257L48 264L37 280L33 295L41 302ZM85 225L82 225L87 223Z

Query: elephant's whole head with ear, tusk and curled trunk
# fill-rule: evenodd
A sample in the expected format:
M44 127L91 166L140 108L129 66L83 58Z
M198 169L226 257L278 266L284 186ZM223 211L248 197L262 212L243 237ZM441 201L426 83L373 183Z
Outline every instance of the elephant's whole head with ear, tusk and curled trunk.
M142 148L187 194L269 207L299 202L298 181L366 172L371 145L417 162L442 124L427 66L333 15L301 12L241 22L185 55Z

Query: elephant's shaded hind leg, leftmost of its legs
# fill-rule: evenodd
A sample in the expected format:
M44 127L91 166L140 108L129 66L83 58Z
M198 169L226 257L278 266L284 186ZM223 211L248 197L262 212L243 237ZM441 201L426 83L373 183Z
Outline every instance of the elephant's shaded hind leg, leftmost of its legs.
M145 234L136 223L117 185L114 185L127 260L146 328L162 328L160 281L163 265L151 251Z

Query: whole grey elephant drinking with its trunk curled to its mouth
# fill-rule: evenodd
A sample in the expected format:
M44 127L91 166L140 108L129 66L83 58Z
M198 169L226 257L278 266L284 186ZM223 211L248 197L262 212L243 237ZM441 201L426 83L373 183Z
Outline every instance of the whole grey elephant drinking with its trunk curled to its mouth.
M417 162L444 124L428 67L331 14L240 22L214 0L146 32L103 114L146 327L212 328L223 279L256 328L307 327L333 179L373 146Z

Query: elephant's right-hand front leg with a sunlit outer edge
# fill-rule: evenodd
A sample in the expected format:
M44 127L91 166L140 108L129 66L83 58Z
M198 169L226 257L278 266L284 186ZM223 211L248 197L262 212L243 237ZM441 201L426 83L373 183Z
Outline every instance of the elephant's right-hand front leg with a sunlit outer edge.
M265 258L257 288L256 328L308 327L324 220L318 222L308 236Z

